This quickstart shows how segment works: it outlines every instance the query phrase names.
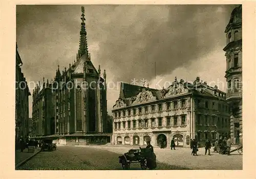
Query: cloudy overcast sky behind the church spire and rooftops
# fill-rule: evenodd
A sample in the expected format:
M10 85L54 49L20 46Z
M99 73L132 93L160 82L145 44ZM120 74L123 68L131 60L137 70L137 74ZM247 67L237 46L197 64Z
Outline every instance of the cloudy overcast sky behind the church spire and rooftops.
M235 5L86 5L89 53L108 82L145 79L194 81L197 76L225 91L224 30ZM81 6L17 6L16 34L28 82L53 79L75 59ZM103 72L103 70L101 70ZM118 87L119 88L119 87ZM108 112L119 89L108 90ZM32 92L32 89L30 89ZM30 117L32 114L32 96Z

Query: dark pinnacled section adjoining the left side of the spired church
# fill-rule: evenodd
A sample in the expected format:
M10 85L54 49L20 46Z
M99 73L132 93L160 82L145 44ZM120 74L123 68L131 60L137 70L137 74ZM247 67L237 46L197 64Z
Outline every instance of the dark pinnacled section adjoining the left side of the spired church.
M52 84L37 85L33 89L32 102L32 133L31 137L43 137L54 134L54 100Z

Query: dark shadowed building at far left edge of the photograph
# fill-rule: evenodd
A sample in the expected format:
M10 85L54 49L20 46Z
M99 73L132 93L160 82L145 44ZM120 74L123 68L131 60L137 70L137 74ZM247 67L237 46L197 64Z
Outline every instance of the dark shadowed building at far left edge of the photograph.
M27 139L29 135L29 96L28 83L20 66L23 65L16 44L16 89L15 89L15 138Z

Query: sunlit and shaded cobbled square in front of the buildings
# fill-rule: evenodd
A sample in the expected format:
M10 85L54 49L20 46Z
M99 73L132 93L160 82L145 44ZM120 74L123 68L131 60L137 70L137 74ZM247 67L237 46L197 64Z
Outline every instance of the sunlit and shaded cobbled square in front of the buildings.
M127 147L57 146L57 150L41 151L17 170L122 170L118 156ZM157 170L242 169L242 156L212 154L190 156L190 150L155 149ZM140 164L131 164L131 170L141 170Z

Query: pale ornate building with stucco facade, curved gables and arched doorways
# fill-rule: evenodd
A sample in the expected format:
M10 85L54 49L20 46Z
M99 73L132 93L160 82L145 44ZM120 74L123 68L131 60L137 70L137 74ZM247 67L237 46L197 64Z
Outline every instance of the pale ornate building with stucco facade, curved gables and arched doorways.
M176 146L190 147L196 138L214 142L229 135L229 111L225 93L217 86L200 82L175 81L162 90L121 83L120 95L113 106L113 143L115 145L153 146L174 138Z

